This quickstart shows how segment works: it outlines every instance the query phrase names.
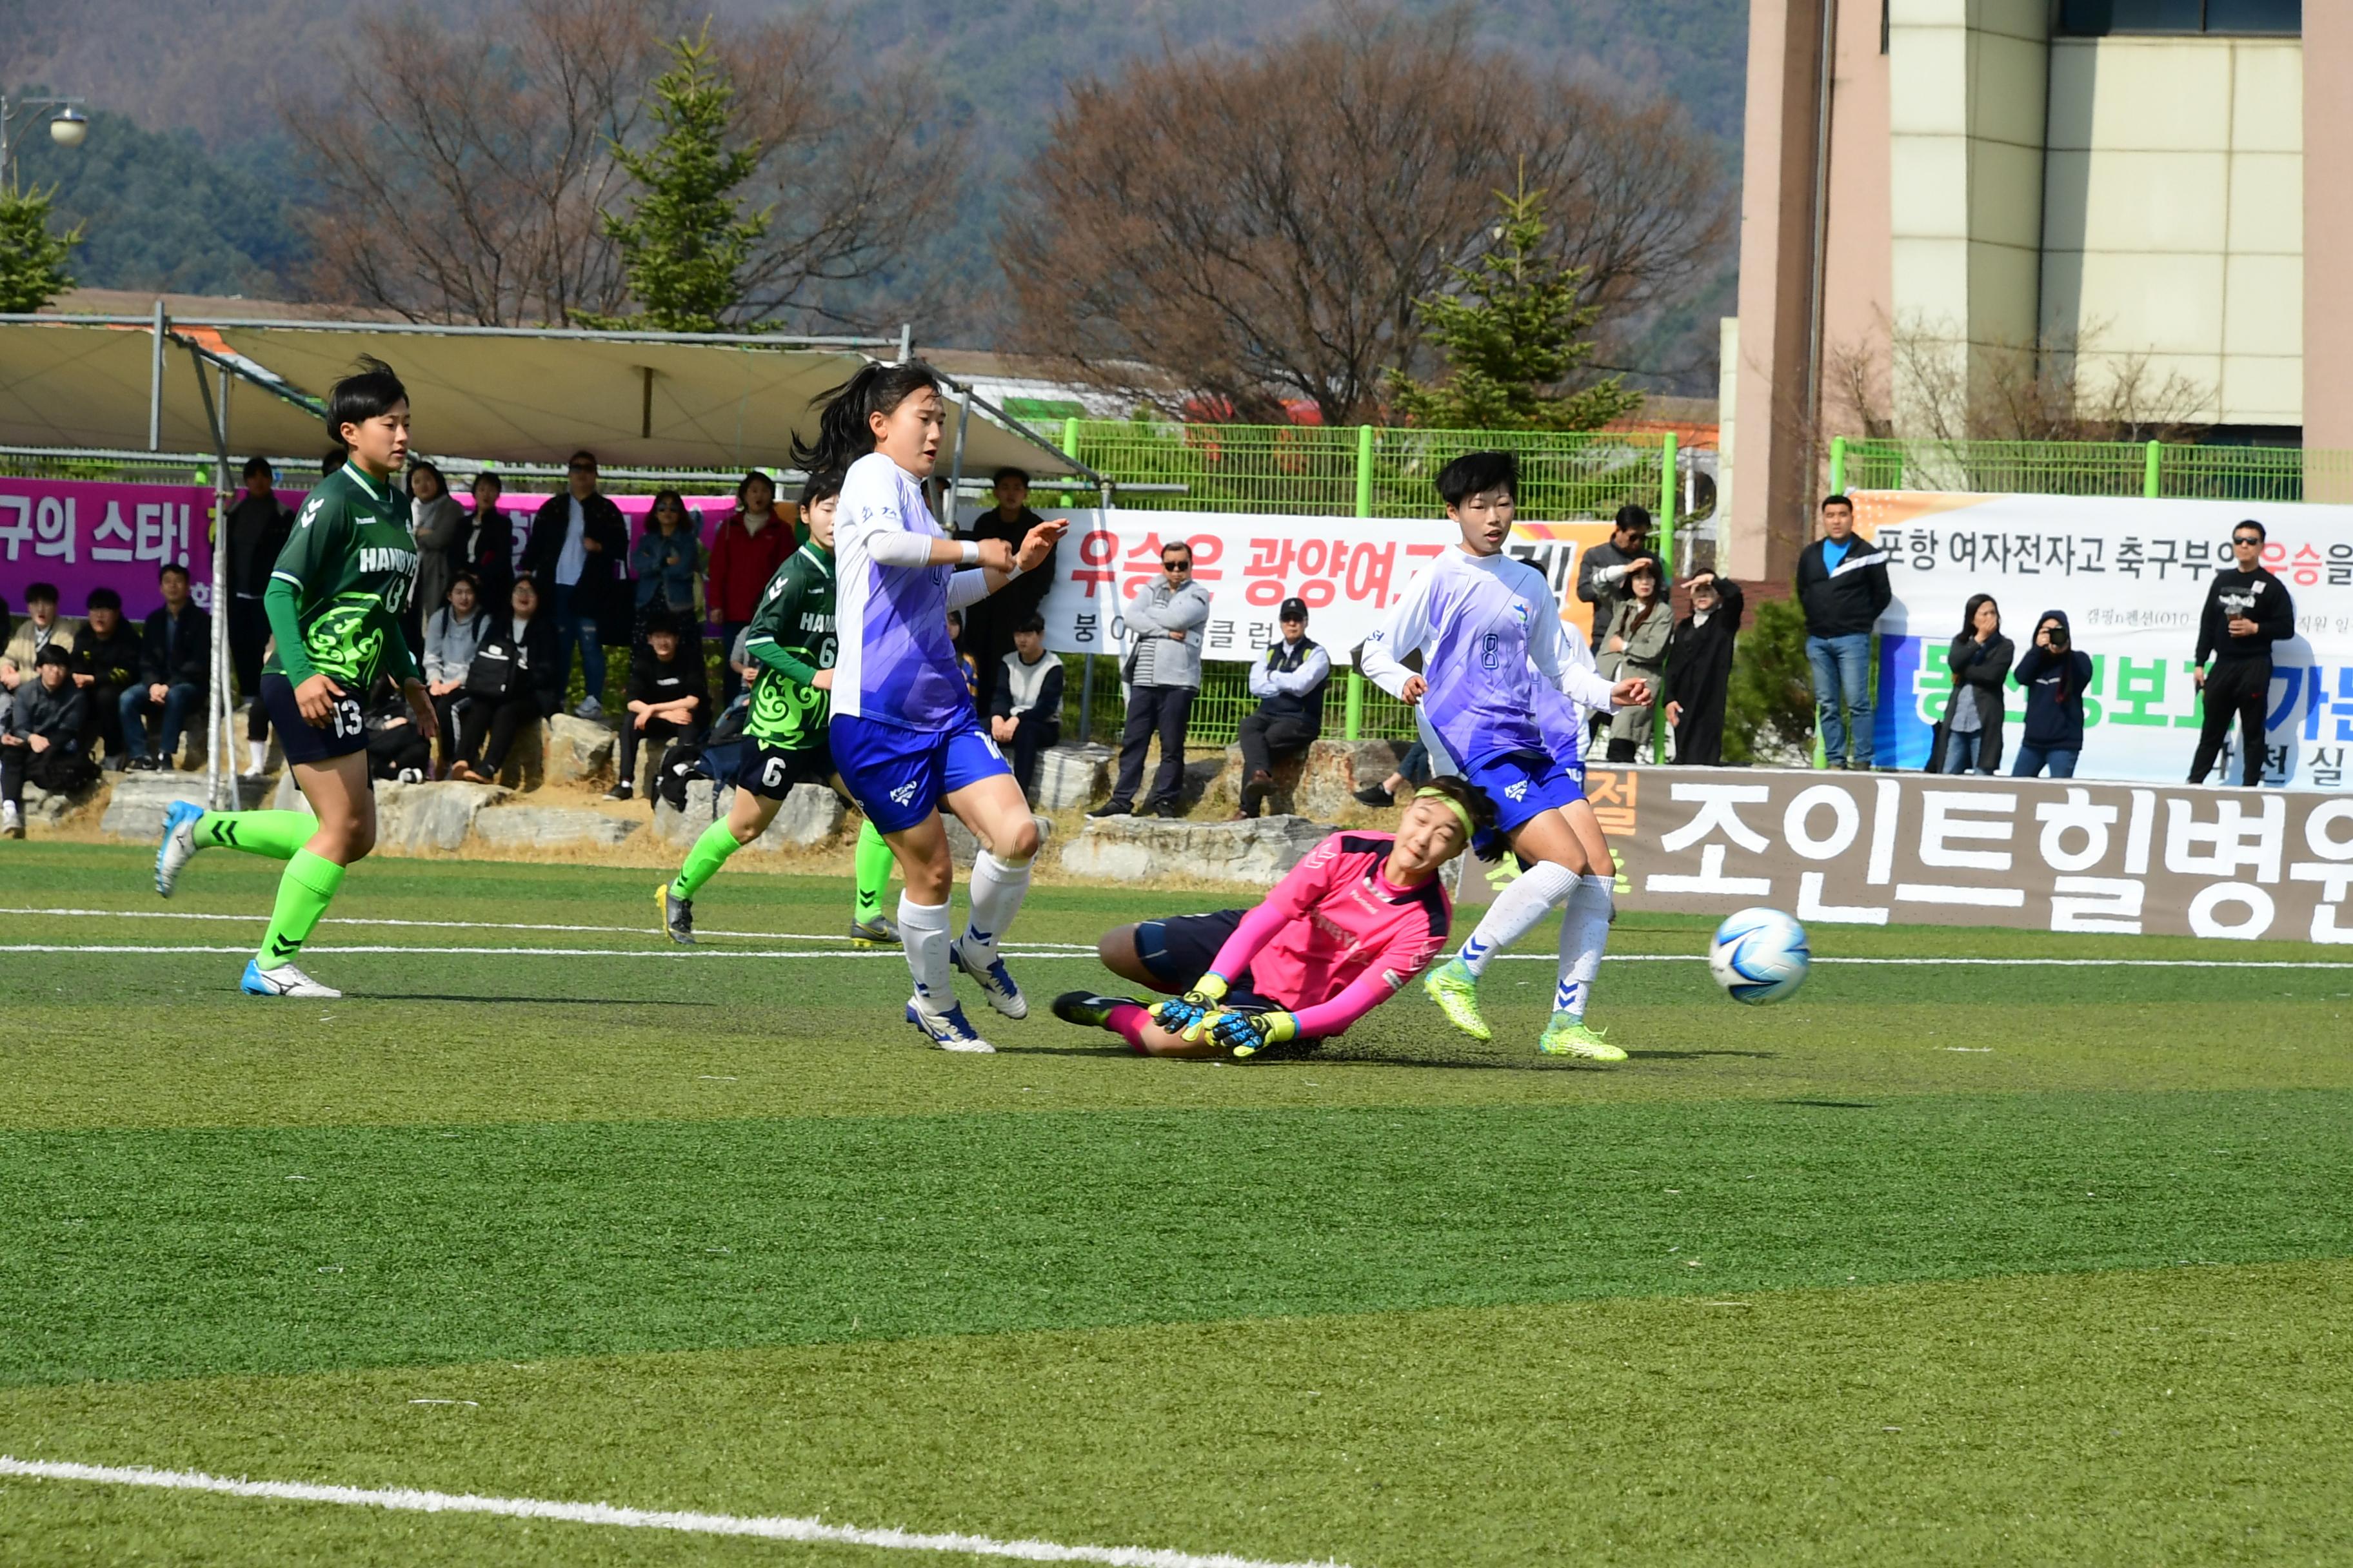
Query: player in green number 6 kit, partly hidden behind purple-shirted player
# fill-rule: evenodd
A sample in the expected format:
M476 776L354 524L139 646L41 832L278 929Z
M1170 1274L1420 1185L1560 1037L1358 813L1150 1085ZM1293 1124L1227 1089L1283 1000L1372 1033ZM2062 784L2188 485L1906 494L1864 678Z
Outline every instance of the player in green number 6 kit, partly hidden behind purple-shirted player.
M809 524L809 543L776 567L753 611L746 654L760 665L751 686L751 719L744 733L755 750L736 771L736 797L727 820L711 823L694 839L687 863L673 882L654 891L661 929L673 943L694 940L694 893L744 844L751 844L776 820L776 809L795 783L821 783L842 792L833 771L833 748L826 745L826 717L833 689L833 503L842 494L842 475L812 475L800 491L800 517ZM896 947L899 926L882 914L889 891L892 853L873 823L859 823L856 905L849 914L852 947Z

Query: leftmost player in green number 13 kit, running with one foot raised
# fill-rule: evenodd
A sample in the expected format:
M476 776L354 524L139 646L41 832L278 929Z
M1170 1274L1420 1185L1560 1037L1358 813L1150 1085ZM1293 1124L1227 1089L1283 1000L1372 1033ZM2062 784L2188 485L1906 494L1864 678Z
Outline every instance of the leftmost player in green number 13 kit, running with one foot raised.
M155 851L155 891L165 898L200 849L287 863L261 952L245 966L242 990L252 997L341 994L299 971L294 957L344 884L344 870L376 846L360 726L360 703L376 677L400 682L416 733L431 738L435 729L433 698L400 632L416 588L409 498L393 484L409 456L409 393L400 376L381 360L360 360L327 395L327 430L346 463L304 501L261 595L275 649L261 665L259 701L278 724L311 811L205 811L172 802Z

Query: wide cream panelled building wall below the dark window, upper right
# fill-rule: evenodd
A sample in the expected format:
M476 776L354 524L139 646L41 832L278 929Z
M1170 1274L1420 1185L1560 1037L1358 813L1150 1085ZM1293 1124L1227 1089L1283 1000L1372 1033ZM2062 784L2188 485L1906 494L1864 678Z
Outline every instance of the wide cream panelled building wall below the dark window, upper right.
M2042 331L2146 353L2202 421L2301 425L2299 40L2066 38L2049 82Z

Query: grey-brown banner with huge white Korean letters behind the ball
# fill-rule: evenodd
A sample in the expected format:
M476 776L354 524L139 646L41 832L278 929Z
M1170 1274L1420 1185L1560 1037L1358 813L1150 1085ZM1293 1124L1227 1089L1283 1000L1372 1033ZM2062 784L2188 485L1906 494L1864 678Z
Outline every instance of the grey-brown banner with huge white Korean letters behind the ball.
M1586 792L1635 910L2353 943L2353 797L1802 769Z

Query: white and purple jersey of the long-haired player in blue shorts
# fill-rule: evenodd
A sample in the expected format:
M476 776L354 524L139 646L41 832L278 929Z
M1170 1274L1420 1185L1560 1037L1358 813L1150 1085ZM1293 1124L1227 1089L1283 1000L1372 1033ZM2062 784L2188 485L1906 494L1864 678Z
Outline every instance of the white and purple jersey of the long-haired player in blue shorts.
M948 611L988 592L979 569L934 567L946 538L922 484L880 451L842 475L833 505L835 637L833 712L901 729L976 724L972 691L948 642Z

